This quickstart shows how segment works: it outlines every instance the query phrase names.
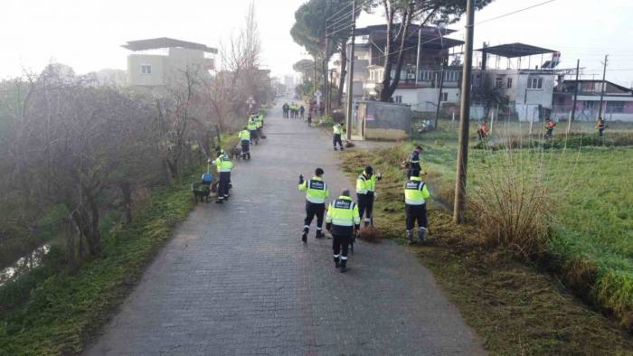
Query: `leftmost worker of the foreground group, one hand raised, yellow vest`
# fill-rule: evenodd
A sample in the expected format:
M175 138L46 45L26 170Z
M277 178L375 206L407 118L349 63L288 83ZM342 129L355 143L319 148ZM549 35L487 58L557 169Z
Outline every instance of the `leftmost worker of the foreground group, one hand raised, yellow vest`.
M310 224L316 216L316 239L325 237L323 231L323 218L326 213L326 199L329 195L327 184L323 182L323 169L316 168L315 176L307 181L303 180L303 174L299 174L299 192L306 192L306 219L303 225L301 240L307 242L307 233Z

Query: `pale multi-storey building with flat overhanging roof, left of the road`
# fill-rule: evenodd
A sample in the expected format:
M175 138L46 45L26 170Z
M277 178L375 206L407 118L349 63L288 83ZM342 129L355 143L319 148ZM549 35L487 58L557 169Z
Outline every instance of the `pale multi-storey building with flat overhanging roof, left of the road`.
M128 55L128 84L139 87L164 87L187 68L211 78L218 52L201 43L166 37L130 41L122 47L134 52Z

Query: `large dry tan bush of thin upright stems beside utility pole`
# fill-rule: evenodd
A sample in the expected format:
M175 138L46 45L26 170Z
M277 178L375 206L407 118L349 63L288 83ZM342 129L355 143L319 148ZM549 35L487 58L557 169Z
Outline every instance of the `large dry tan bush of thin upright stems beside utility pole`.
M488 242L525 257L543 247L553 213L553 192L542 153L490 152L468 191L473 217Z

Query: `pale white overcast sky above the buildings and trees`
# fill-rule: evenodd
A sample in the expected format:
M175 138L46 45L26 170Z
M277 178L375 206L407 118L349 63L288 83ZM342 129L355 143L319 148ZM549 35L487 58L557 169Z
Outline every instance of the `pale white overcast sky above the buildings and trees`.
M325 0L323 0L325 1ZM363 1L363 0L360 0ZM477 12L476 23L544 0L496 0ZM0 78L24 69L42 70L49 61L70 65L78 73L103 68L125 69L129 40L173 37L213 47L242 23L249 0L4 0L0 12ZM262 62L273 75L292 72L303 50L289 29L304 0L256 0L263 44ZM556 0L476 26L476 48L525 42L562 52L562 67L576 59L600 77L609 54L607 78L633 85L633 0ZM381 23L364 14L359 25ZM463 29L463 23L449 26ZM462 39L463 31L452 35Z

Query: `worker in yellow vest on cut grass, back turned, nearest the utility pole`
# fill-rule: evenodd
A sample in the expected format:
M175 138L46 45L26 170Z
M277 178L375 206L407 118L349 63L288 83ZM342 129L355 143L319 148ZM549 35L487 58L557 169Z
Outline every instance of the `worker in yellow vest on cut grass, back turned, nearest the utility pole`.
M427 185L420 178L420 171L411 171L409 181L404 184L404 212L407 218L407 238L409 245L413 245L413 227L418 222L418 239L424 243L424 235L428 229L427 205L430 192Z

